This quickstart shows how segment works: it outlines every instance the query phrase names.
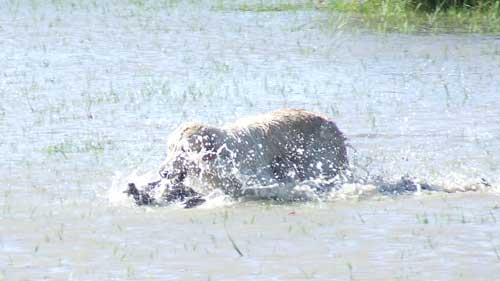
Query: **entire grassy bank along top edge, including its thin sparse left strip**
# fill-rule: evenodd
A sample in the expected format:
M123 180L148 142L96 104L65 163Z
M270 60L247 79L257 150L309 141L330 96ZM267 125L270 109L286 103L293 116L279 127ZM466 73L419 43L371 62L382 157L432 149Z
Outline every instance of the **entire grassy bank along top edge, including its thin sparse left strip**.
M294 12L320 10L336 18L347 14L345 24L381 32L500 32L500 0L310 0L261 1L232 5L219 1L216 10L240 12Z

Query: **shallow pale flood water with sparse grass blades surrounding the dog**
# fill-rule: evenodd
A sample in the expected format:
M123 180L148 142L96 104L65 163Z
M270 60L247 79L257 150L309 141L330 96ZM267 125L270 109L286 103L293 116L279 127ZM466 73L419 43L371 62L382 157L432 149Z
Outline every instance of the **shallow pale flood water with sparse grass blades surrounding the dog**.
M500 37L221 1L0 2L0 280L497 280ZM359 179L307 203L136 207L180 123L336 120Z

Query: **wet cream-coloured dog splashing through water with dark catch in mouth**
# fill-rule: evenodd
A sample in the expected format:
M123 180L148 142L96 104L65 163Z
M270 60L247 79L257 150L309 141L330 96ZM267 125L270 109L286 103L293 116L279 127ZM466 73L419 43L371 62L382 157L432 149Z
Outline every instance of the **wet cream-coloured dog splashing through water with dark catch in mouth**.
M319 114L282 109L240 119L222 127L187 123L168 139L161 179L125 191L137 204L161 201L196 206L221 189L232 197L244 187L331 180L348 166L345 138L336 124Z

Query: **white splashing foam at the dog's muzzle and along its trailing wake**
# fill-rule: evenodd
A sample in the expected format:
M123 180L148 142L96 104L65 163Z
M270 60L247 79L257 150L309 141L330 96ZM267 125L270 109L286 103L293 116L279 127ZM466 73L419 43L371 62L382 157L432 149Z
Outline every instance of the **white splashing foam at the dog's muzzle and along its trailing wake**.
M128 183L133 182L136 186L147 186L157 178L155 173L139 175L133 170L127 176L116 172L112 178L110 189L106 197L114 205L134 205L133 199L124 193ZM283 202L293 201L338 201L338 200L370 200L381 196L397 196L406 194L422 196L429 192L490 192L500 193L500 180L482 178L471 178L459 173L451 173L445 176L435 176L429 180L405 177L393 177L384 179L382 177L371 177L371 179L346 180L341 182L327 182L321 179L309 180L300 184L272 184L267 186L245 186L243 196L234 200L222 190L216 189L203 197L205 203L198 208L210 209L230 206L237 201L249 200L277 200ZM409 184L408 184L409 182ZM425 187L425 188L424 188ZM318 193L318 190L324 192ZM151 196L161 198L163 190L158 188ZM161 200L160 200L161 201ZM166 204L167 205L167 204ZM182 203L168 204L183 208Z

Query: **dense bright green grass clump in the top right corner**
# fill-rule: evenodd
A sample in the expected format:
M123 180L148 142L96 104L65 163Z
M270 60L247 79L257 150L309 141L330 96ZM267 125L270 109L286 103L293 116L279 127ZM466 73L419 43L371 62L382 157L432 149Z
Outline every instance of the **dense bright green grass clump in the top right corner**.
M383 32L500 31L500 0L330 0L321 9L351 13Z

